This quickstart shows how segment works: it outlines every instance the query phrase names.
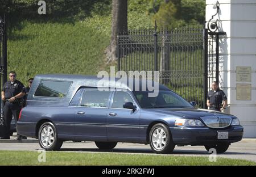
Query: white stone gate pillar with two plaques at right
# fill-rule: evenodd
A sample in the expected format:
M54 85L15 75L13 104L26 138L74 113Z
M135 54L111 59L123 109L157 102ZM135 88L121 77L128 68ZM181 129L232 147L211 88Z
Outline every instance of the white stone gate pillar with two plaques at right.
M225 112L240 119L245 128L243 137L256 138L256 1L218 2L220 11L215 16L220 20L218 29L226 32L220 36L219 68L220 88L228 96ZM206 4L208 22L216 13L216 1L206 0Z

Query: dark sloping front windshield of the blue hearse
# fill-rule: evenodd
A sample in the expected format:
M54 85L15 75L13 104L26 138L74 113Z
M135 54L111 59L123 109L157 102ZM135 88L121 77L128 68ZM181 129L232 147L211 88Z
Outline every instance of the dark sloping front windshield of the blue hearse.
M186 100L172 91L159 91L158 96L148 97L149 91L133 91L142 108L192 108Z

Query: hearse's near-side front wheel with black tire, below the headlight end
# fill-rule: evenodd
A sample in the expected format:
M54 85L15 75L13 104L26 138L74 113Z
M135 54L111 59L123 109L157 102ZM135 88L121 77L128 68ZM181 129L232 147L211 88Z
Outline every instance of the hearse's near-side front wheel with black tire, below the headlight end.
M156 154L169 154L174 150L170 130L164 124L155 124L149 133L150 147Z

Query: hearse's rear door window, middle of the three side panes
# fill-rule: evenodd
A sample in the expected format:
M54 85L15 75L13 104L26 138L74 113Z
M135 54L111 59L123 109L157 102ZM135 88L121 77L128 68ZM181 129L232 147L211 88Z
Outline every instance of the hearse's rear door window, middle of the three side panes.
M85 90L82 94L80 106L84 107L108 107L110 91Z

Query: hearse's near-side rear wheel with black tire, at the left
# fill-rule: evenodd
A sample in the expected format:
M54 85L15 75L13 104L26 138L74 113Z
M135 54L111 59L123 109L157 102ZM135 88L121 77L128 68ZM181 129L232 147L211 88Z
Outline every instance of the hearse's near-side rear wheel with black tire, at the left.
M45 150L59 150L63 141L57 137L55 126L51 122L41 125L38 132L40 146Z

